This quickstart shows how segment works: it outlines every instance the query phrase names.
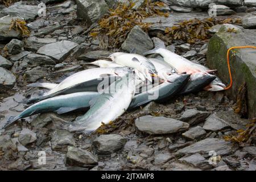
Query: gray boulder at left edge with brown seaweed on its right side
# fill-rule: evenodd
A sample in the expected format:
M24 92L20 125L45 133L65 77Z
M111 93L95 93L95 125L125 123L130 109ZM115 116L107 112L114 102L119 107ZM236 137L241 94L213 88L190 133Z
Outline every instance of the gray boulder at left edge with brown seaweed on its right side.
M3 16L0 18L0 41L7 41L11 39L20 39L20 32L14 30L13 28L9 30L11 26L11 20L17 17Z

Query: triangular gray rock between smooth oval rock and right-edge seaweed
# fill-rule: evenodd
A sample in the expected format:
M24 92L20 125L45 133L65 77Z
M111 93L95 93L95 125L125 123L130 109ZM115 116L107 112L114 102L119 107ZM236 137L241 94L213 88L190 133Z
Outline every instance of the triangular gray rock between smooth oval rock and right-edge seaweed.
M209 131L220 131L222 129L226 129L227 127L229 127L228 123L226 123L223 119L218 118L216 113L213 113L205 121L203 129Z

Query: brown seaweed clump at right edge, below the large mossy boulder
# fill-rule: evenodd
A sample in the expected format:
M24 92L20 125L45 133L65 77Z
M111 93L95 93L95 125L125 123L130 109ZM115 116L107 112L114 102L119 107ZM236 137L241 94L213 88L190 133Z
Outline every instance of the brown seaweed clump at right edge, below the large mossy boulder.
M250 123L246 125L245 130L237 130L234 135L226 135L224 139L240 144L250 144L251 141L256 137L256 118L251 119Z

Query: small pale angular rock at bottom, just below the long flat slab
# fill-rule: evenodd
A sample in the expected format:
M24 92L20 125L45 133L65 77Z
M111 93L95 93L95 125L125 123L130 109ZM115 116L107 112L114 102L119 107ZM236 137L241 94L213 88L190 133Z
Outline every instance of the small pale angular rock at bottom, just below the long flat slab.
M193 154L191 156L180 158L179 161L182 163L191 164L193 167L204 169L204 170L212 168L208 160L205 159L200 154Z

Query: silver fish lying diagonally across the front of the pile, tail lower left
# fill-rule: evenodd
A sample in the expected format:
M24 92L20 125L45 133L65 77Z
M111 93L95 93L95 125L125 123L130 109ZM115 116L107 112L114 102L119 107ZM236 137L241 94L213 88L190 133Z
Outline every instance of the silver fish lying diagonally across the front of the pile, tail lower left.
M113 82L110 89L104 90L87 113L77 117L75 122L68 126L71 132L90 134L97 130L102 123L108 124L121 116L129 107L135 93L135 73L127 74Z

